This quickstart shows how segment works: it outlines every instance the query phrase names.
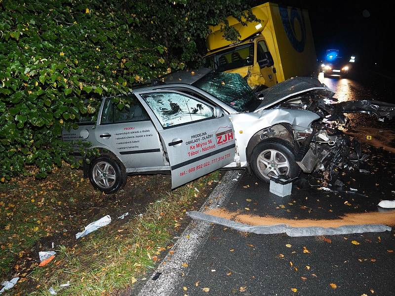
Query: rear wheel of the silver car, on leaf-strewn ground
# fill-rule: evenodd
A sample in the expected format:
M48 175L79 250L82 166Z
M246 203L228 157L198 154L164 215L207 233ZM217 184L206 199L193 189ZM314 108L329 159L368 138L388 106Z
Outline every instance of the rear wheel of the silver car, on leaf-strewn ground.
M126 184L126 169L118 159L110 154L102 154L93 159L88 169L89 181L96 189L114 194Z

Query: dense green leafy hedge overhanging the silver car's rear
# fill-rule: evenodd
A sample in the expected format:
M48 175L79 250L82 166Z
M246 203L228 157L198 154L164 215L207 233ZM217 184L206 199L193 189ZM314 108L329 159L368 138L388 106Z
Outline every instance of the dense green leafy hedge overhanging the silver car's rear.
M232 0L0 1L0 181L42 178L70 161L63 127L95 114L103 95L193 65L207 24L245 8Z

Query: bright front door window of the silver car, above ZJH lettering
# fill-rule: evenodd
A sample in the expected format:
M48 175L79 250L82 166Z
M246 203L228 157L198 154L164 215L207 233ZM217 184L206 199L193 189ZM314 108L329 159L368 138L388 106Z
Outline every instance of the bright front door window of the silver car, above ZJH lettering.
M156 92L142 94L141 97L155 113L162 127L214 117L211 107L183 94Z

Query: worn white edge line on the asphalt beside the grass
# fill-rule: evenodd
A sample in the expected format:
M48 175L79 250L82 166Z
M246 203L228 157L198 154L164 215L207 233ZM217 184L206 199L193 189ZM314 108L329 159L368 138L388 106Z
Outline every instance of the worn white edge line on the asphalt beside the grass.
M237 176L237 171L227 172L222 182L214 188L200 210L221 207L234 186L237 185L237 182L233 181ZM158 279L154 281L151 277L138 296L175 295L174 289L181 281L182 274L185 273L186 275L189 270L188 267L183 267L182 264L190 264L193 259L197 258L201 250L200 246L203 246L206 242L211 229L212 225L209 222L192 221L171 249L174 251L174 254L167 254L155 270L154 276L161 273ZM163 264L164 262L165 264Z

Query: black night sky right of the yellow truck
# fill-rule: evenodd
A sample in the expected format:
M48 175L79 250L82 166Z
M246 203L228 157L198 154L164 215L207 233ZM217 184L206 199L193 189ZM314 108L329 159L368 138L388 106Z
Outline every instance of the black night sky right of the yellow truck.
M252 4L265 2L252 1ZM344 56L356 55L356 62L361 68L393 72L395 4L389 4L389 1L333 0L272 2L309 10L319 61L326 49L334 48Z

